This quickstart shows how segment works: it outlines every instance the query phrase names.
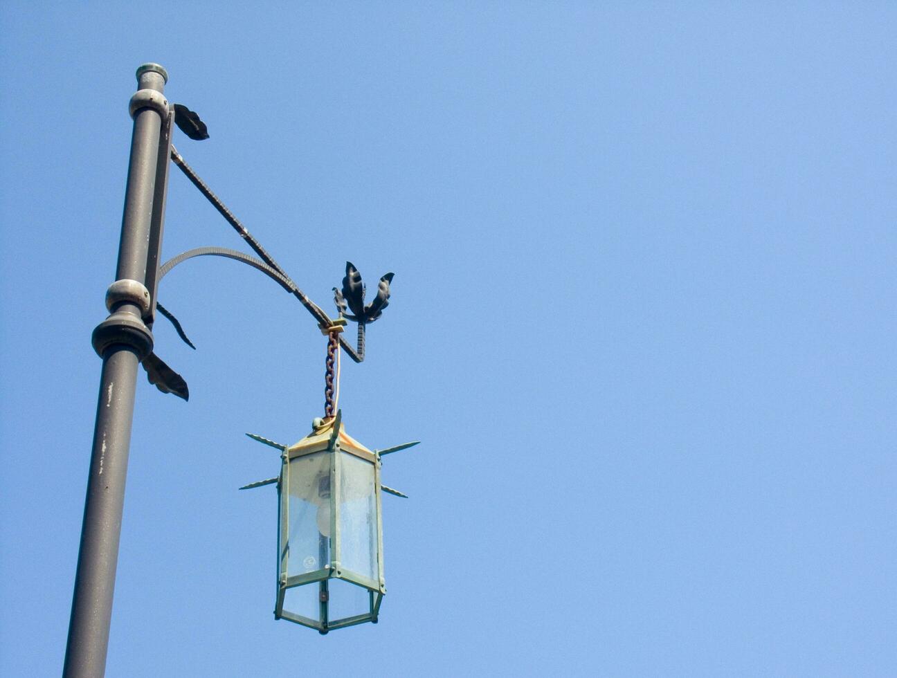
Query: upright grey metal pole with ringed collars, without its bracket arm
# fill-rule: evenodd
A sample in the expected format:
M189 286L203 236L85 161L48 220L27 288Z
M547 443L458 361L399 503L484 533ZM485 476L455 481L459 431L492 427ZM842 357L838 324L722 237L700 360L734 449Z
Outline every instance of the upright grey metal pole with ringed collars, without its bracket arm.
M164 204L164 199L161 204L159 199L164 187L156 190L156 178L160 157L167 162L160 153L160 142L170 143L170 106L162 94L167 80L161 65L144 64L137 69L138 91L131 98L134 134L116 282L106 292L110 315L92 336L103 365L65 648L66 678L95 678L106 672L137 369L152 352L147 322L152 325L155 300L151 302L146 287L146 268L148 256L152 266L158 265L158 253L153 256L148 251L151 240L154 246L161 246L161 214L153 215L153 205L159 212ZM164 177L163 171L162 182ZM151 271L149 276L152 286L155 273Z

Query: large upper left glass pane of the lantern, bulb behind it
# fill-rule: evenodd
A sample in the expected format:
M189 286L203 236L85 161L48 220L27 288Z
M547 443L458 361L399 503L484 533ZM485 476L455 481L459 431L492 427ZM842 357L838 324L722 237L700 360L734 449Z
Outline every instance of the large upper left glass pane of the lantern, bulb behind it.
M288 473L287 576L292 577L322 569L330 562L330 455L316 452L293 457Z

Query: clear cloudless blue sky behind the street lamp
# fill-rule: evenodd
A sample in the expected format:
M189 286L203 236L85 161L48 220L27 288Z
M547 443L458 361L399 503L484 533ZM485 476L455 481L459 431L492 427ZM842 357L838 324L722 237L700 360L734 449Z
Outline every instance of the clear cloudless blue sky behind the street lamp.
M897 6L0 6L0 674L60 672L135 68L312 299L395 271L349 432L377 625L274 621L325 341L191 261L141 371L109 676L897 674ZM172 170L166 258L242 248ZM248 251L248 250L247 250Z

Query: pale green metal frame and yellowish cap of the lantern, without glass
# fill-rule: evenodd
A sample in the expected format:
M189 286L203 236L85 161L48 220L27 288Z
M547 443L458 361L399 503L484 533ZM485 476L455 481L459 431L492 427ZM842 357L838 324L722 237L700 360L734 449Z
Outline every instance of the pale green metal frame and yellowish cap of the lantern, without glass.
M293 621L302 626L317 629L320 633L327 633L329 630L342 629L367 621L376 623L383 595L387 592L386 580L383 576L383 520L380 492L382 462L378 452L364 447L345 432L341 419L340 413L337 413L334 418L320 422L320 425L306 438L301 439L292 446L282 448L281 473L277 482L277 597L274 605L274 618ZM328 457L327 473L330 482L330 497L327 500L330 502L330 535L329 537L323 537L322 535L322 538L328 539L327 552L329 560L326 563L318 562L318 569L290 576L291 465L295 459L320 452L326 453ZM344 546L340 525L342 511L340 479L345 473L344 464L347 461L345 455L358 457L365 463L373 466L373 487L371 490L375 497L373 505L376 512L376 579L365 577L360 572L344 568L340 562ZM355 614L333 621L330 620L329 584L335 579L345 581L368 591L369 606L366 613ZM284 608L286 594L289 589L314 586L316 583L319 587L318 601L320 604L318 620Z

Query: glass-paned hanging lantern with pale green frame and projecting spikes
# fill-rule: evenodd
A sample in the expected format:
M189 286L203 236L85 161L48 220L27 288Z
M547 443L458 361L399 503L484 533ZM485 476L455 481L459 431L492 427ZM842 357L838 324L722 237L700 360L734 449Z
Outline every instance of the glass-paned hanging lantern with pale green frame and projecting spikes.
M281 450L276 478L240 490L277 483L277 601L274 617L321 633L377 621L386 594L380 491L380 457L417 442L370 450L349 436L342 416L316 419L299 442Z

